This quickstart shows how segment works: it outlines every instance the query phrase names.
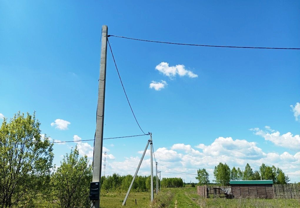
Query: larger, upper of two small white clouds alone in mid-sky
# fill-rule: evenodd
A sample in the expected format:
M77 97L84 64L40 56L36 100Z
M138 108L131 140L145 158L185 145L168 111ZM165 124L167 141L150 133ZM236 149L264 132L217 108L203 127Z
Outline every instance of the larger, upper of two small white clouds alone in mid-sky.
M174 77L176 76L176 74L178 74L179 76L188 76L190 78L198 77L197 74L186 70L185 66L182 64L178 64L176 66L169 66L167 62L161 62L155 67L155 69L168 77Z

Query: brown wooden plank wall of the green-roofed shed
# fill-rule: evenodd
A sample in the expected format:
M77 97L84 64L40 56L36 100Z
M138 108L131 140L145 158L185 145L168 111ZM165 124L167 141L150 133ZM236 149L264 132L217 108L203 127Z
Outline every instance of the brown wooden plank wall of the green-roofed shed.
M235 198L274 198L273 184L232 184Z

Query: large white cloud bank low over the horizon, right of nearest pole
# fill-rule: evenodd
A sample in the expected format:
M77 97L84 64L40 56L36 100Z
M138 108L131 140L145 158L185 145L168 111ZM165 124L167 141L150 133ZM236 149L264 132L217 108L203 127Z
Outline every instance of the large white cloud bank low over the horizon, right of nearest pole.
M251 168L258 170L262 163L265 165L275 165L281 168L286 174L299 174L300 152L295 155L289 152L276 153L264 152L257 147L255 142L247 140L232 139L231 137L219 137L211 144L199 144L196 146L200 150L194 150L190 144L173 144L170 148L160 147L155 151L155 157L158 161L158 170L162 171L162 177L181 177L185 181L196 182L194 175L180 175L174 170L196 174L197 169L205 168L209 174L213 174L214 166L219 162L226 163L230 168L235 166L244 170L247 163ZM138 151L142 154L143 151ZM136 171L140 161L140 156L125 157L121 161L107 161L106 173L113 174L131 174ZM142 162L138 175L150 174L150 151ZM155 170L155 161L153 159ZM164 166L166 167L164 167ZM172 169L169 169L169 168ZM164 172L163 172L164 171ZM169 172L169 173L166 173ZM299 172L299 173L298 173ZM289 175L291 182L299 181L297 176ZM210 176L210 180L213 180Z

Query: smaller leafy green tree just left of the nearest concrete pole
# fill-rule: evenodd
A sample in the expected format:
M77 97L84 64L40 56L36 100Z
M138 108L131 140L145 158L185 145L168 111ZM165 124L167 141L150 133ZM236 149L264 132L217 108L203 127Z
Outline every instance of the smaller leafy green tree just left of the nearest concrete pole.
M51 177L50 199L61 208L85 207L91 180L92 166L88 165L86 155L79 158L76 146L64 156Z

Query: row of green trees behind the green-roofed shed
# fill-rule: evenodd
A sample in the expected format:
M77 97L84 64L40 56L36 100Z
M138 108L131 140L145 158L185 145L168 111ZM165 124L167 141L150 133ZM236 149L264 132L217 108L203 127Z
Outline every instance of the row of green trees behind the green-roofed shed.
M208 173L203 169L197 171L198 176L196 179L199 181L198 185L205 185L209 183ZM214 182L222 186L229 186L230 180L273 180L274 184L286 184L289 182L289 177L284 174L280 168L274 165L268 166L262 163L259 170L253 171L247 163L244 171L240 168L233 168L230 170L229 166L225 163L219 163L214 167Z

